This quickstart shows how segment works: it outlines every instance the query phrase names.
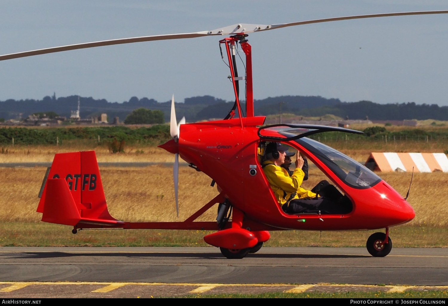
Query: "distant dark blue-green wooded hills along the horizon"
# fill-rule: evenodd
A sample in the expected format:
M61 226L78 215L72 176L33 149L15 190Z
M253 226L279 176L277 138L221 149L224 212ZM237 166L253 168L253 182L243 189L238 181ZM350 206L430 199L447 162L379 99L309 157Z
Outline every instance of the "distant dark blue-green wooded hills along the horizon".
M133 110L139 108L159 110L164 121L169 121L171 102L158 102L155 99L132 97L125 102L108 102L106 99L81 97L81 118L98 117L107 113L108 118L119 117L124 120ZM206 119L223 119L232 108L234 102L212 96L198 96L185 98L184 102L176 102L176 113L179 118L185 116L187 121L194 122ZM336 115L349 119L372 120L403 120L403 119L435 119L448 118L448 106L437 104L416 104L414 102L379 104L371 101L341 102L336 98L323 98L320 96L279 96L258 99L254 101L255 115L273 115L280 112L292 113L301 116ZM245 101L241 101L243 115ZM30 114L53 111L62 116L69 117L70 110L78 107L78 96L52 97L46 96L42 100L13 100L0 101L0 121L3 119L16 119L19 116L26 118ZM20 115L22 114L22 115ZM154 115L159 118L160 113Z

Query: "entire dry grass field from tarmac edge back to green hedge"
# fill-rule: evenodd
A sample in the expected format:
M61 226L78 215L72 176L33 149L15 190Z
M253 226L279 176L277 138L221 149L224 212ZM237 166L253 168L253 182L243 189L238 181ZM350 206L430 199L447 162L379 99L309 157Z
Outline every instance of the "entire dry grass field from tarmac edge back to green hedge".
M335 146L336 147L336 146ZM111 154L106 148L91 146L15 147L0 154L0 162L52 161L54 153L95 149L99 161L173 161L173 155L155 147L128 148L124 154ZM338 148L355 157L372 150ZM393 148L392 148L393 149ZM415 147L414 147L415 149ZM417 148L419 149L419 148ZM412 151L417 151L412 150ZM422 151L420 148L420 152ZM352 151L353 150L353 151ZM136 153L139 151L139 153ZM141 152L143 151L143 153ZM403 149L405 151L405 149ZM30 153L28 153L30 152ZM440 151L438 151L440 152ZM365 158L356 158L363 160ZM8 245L204 245L202 231L96 230L71 234L64 225L40 222L35 212L37 195L46 168L0 168L0 246ZM144 168L100 168L103 187L111 215L123 221L182 221L216 194L207 175L189 167L179 169L179 219L176 217L172 169L166 166ZM379 173L401 195L405 195L410 173ZM310 169L304 187L311 188L325 179L317 168ZM406 225L391 229L394 246L448 246L448 174L416 173L409 195L416 217ZM198 221L213 221L211 208ZM272 246L365 246L369 232L275 232L267 245ZM306 238L304 238L306 236Z

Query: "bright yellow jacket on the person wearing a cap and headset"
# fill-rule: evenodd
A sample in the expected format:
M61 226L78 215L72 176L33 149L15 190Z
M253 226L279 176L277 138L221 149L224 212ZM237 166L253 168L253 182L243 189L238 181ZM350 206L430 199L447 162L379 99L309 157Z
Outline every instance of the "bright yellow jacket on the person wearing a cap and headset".
M305 176L300 168L296 168L293 175L289 176L286 169L276 166L272 161L263 161L263 170L280 206L285 204L294 192L296 194L293 199L307 199L316 196L314 192L300 187Z

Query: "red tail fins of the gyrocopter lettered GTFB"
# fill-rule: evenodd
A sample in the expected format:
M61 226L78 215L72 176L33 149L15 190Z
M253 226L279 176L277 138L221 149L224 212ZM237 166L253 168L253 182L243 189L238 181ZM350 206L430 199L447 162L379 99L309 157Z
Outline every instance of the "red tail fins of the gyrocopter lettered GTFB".
M59 180L65 183L53 182ZM68 220L73 223L77 216L81 223L87 224L122 223L109 214L95 151L55 155L37 212L43 213L42 221L59 224L67 224ZM58 218L66 223L57 222Z

